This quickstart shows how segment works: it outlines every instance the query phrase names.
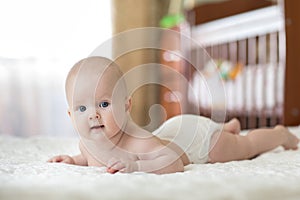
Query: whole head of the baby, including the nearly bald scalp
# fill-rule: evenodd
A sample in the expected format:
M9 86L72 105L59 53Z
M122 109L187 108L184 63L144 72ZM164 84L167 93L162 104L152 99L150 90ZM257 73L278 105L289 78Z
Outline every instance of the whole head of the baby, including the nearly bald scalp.
M65 89L68 113L80 134L101 132L110 137L126 123L131 100L113 61L103 57L79 61L70 70Z

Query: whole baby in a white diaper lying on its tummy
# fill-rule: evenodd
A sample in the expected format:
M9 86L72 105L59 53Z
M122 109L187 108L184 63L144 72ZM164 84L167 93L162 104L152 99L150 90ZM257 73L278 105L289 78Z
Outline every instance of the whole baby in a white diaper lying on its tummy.
M242 136L237 119L218 124L197 115L176 116L150 133L131 120L123 74L103 57L76 63L65 89L68 114L81 136L81 153L55 156L49 162L101 166L109 173L164 174L182 172L191 163L250 159L280 145L297 149L299 142L280 125Z

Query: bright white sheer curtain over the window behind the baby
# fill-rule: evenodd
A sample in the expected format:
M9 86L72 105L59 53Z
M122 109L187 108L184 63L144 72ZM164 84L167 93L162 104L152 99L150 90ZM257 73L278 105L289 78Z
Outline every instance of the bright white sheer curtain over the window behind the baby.
M76 135L64 80L111 37L110 0L0 3L0 134Z

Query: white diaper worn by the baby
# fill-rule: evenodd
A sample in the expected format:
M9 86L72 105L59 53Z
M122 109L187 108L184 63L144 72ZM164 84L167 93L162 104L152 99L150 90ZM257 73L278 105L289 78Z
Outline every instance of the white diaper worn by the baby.
M187 154L191 163L209 160L211 137L222 125L198 115L178 115L153 132L157 137L174 142Z

